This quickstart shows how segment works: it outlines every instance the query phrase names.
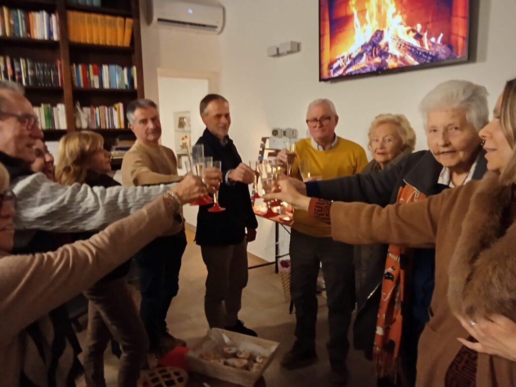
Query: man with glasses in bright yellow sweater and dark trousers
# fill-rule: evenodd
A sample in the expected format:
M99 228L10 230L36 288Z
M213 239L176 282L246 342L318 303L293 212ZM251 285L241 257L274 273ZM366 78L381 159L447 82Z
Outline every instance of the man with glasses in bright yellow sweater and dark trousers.
M364 149L357 143L335 135L338 116L329 100L313 101L307 111L311 138L296 143L292 176L301 178L299 166L308 162L310 174L322 179L359 173L367 165ZM278 154L286 164L287 153ZM306 168L306 166L305 166ZM334 382L346 384L347 332L351 319L353 289L353 247L331 238L328 224L309 219L304 211L294 212L290 242L291 292L296 307L296 342L282 359L287 369L306 367L317 361L315 323L316 284L319 266L326 284L330 340L327 349Z

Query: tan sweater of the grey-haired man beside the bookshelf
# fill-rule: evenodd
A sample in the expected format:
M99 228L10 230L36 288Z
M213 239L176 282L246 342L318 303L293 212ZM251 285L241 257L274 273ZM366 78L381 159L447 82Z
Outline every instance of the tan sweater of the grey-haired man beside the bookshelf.
M136 140L122 161L123 185L166 184L180 180L174 152L162 145L152 147Z

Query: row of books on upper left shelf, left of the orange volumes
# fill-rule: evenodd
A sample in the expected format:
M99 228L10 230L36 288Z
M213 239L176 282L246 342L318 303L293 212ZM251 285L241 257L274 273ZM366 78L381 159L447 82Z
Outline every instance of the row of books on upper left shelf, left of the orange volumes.
M59 40L57 15L46 11L24 11L2 7L0 36Z

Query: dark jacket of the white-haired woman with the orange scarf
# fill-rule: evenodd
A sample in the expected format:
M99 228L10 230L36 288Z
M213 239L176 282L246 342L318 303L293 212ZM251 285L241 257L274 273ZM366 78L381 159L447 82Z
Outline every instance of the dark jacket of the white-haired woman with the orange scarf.
M483 150L480 152L482 155L485 154ZM430 151L420 151L409 155L392 168L380 172L306 183L307 195L326 200L386 206L396 202L399 189L407 184L426 196L436 195L448 188L437 183L442 169L443 166ZM481 179L486 170L487 161L480 157L473 179ZM380 255L375 259L375 262L381 262L382 270L378 270L378 266L371 267L370 272L366 274L367 281L362 292L357 295L357 300L362 300L362 305L359 305L353 326L353 343L355 348L365 350L366 356L371 354L373 348L386 251L387 246L379 249ZM416 249L414 255L411 309L414 325L421 326L428 320L427 311L434 286L435 251ZM407 331L405 333L410 335ZM421 331L416 329L415 336L418 336L418 333ZM414 339L417 342L417 337Z

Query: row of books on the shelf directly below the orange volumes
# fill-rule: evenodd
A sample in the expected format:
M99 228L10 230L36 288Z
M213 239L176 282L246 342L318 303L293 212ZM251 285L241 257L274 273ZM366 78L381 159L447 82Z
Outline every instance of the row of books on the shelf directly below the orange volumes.
M96 89L136 89L136 66L91 65L75 63L71 66L72 82L75 87Z

